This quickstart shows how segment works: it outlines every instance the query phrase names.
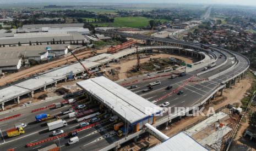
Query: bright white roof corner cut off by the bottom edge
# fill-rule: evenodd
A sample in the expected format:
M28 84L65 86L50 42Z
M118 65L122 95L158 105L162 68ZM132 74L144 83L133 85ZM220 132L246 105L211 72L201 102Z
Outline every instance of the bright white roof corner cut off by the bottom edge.
M190 150L190 151L206 151L197 141L193 140L184 132L180 132L177 135L169 138L165 142L158 144L157 146L148 149L149 151L179 151L179 150Z

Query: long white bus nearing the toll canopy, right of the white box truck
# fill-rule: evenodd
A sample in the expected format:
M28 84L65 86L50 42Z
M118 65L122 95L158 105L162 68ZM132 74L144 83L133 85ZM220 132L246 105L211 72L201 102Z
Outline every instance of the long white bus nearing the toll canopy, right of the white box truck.
M92 108L92 109L88 109L86 111L77 113L77 115L75 116L77 119L77 122L100 115L101 113L99 110L100 110L99 108Z

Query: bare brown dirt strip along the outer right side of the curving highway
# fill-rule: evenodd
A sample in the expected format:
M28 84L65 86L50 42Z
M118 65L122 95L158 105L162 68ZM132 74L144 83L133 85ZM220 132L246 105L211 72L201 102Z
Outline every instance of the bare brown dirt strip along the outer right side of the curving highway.
M240 80L239 83L237 83L235 86L232 86L231 89L225 89L223 96L224 101L219 102L218 104L213 104L210 103L209 106L214 107L215 111L218 110L219 108L226 106L226 104L230 103L241 103L241 99L244 97L246 94L247 90L250 89L252 79L249 77L246 79ZM216 97L214 101L220 100L221 97ZM209 107L208 106L208 107ZM204 109L204 113L207 113L207 107ZM190 125L193 125L197 123L199 120L204 119L205 117L202 116L197 116L197 117L186 117L184 119L181 119L180 121L177 121L176 123L173 123L171 126L168 126L161 131L164 132L167 136L172 137L176 133L185 130L187 127ZM142 139L141 141L145 141L147 138ZM160 143L159 140L157 140L154 136L150 136L150 146L154 146L155 144ZM124 146L120 148L119 150L127 150L130 148L130 146Z

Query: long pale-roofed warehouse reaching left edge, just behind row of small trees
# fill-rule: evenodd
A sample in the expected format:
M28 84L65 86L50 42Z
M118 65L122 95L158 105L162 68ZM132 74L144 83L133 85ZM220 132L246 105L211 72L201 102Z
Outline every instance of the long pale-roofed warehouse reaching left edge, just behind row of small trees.
M34 32L34 33L6 33L4 37L0 37L1 45L18 45L31 43L32 45L38 44L51 44L53 39L55 43L67 43L70 41L82 43L85 38L78 32Z

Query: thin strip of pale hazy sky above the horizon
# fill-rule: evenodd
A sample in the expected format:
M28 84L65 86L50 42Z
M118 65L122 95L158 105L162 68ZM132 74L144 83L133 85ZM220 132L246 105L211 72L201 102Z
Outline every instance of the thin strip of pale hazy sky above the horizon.
M76 0L75 2L89 3L188 3L188 4L232 4L256 5L256 0ZM0 3L70 3L70 0L0 0Z

